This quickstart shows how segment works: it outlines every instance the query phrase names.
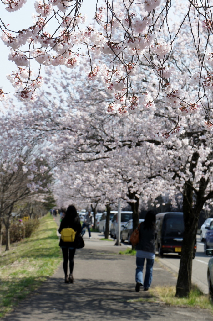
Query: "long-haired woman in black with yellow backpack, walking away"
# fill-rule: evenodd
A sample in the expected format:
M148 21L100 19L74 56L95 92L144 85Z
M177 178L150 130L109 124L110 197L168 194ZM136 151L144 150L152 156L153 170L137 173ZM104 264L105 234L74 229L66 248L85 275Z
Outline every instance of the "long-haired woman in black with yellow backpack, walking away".
M74 267L74 255L76 250L76 235L79 236L81 233L81 224L78 213L75 206L70 205L67 208L66 214L61 221L59 233L61 239L59 246L63 253L63 270L65 274L65 283L73 283L73 267ZM70 275L68 277L68 259L70 261Z

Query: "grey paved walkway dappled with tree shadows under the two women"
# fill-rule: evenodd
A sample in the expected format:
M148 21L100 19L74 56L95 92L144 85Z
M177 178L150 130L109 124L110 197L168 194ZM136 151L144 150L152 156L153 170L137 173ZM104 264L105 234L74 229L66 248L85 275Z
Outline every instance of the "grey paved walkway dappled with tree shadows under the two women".
M125 246L102 241L99 233L84 236L85 247L76 251L74 284L65 284L61 265L4 321L212 321L207 310L168 307L147 302L149 291L135 292L135 257L119 255ZM152 286L175 285L176 278L154 264Z

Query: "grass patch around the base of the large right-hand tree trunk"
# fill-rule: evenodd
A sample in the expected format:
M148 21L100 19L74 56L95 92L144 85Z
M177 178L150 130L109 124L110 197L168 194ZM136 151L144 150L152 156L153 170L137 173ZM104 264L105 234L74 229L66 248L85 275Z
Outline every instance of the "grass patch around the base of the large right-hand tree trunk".
M213 305L208 295L204 295L195 285L193 285L192 291L186 298L176 298L175 293L175 286L156 286L150 289L151 295L168 305L209 309L213 313Z

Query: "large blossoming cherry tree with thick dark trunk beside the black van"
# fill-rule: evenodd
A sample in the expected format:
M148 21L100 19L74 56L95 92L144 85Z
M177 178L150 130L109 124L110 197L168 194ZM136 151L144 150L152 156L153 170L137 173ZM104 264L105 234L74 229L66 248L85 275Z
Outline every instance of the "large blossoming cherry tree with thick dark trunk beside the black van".
M188 88L187 82L183 83L183 90L184 86ZM128 195L128 201L131 201L131 193L135 193L134 197L140 196L143 203L148 203L150 198L154 202L159 195L168 194L175 207L177 197L182 195L185 231L177 295L187 295L191 289L192 252L199 213L204 205L212 204L211 132L205 131L204 127L199 125L200 114L185 113L182 122L188 130L183 130L179 140L173 137L171 141L167 141L167 138L160 134L154 136L152 126L155 124L158 132L162 133L162 128L176 117L174 107L164 108L164 117L159 115L156 123L154 114L157 114L157 110L152 114L146 110L140 111L143 118L137 117L137 114L125 120L104 116L100 111L103 103L102 92L100 91L99 95L98 89L95 91L92 87L83 88L79 88L78 95L72 96L72 100L61 98L63 108L57 106L55 100L52 111L49 105L46 106L49 116L45 119L44 115L47 113L44 112L42 101L42 113L39 109L32 112L36 121L30 128L34 126L36 130L54 136L63 161L88 164L106 161L110 175L116 173L116 178L119 178L118 184L121 181L127 183L123 188ZM83 94L84 90L86 96ZM67 86L65 91L71 95ZM190 94L193 97L193 90ZM95 99L98 104L93 104ZM82 110L78 108L77 112L74 106L79 106L79 100L83 101ZM70 103L73 104L73 113L66 108L65 101L69 106ZM164 107L160 98L158 103ZM87 179L89 181L89 176ZM133 201L137 203L134 197Z

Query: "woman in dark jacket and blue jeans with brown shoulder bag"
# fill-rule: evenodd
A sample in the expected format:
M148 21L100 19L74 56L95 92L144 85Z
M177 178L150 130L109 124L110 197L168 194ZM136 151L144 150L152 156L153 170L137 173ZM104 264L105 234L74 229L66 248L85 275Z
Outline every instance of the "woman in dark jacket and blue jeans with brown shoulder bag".
M153 211L146 213L144 222L140 225L139 243L136 245L136 274L135 274L135 291L140 291L140 286L143 285L143 290L147 291L152 282L152 267L155 258L155 239L156 217ZM146 259L146 273L143 283L143 265Z

